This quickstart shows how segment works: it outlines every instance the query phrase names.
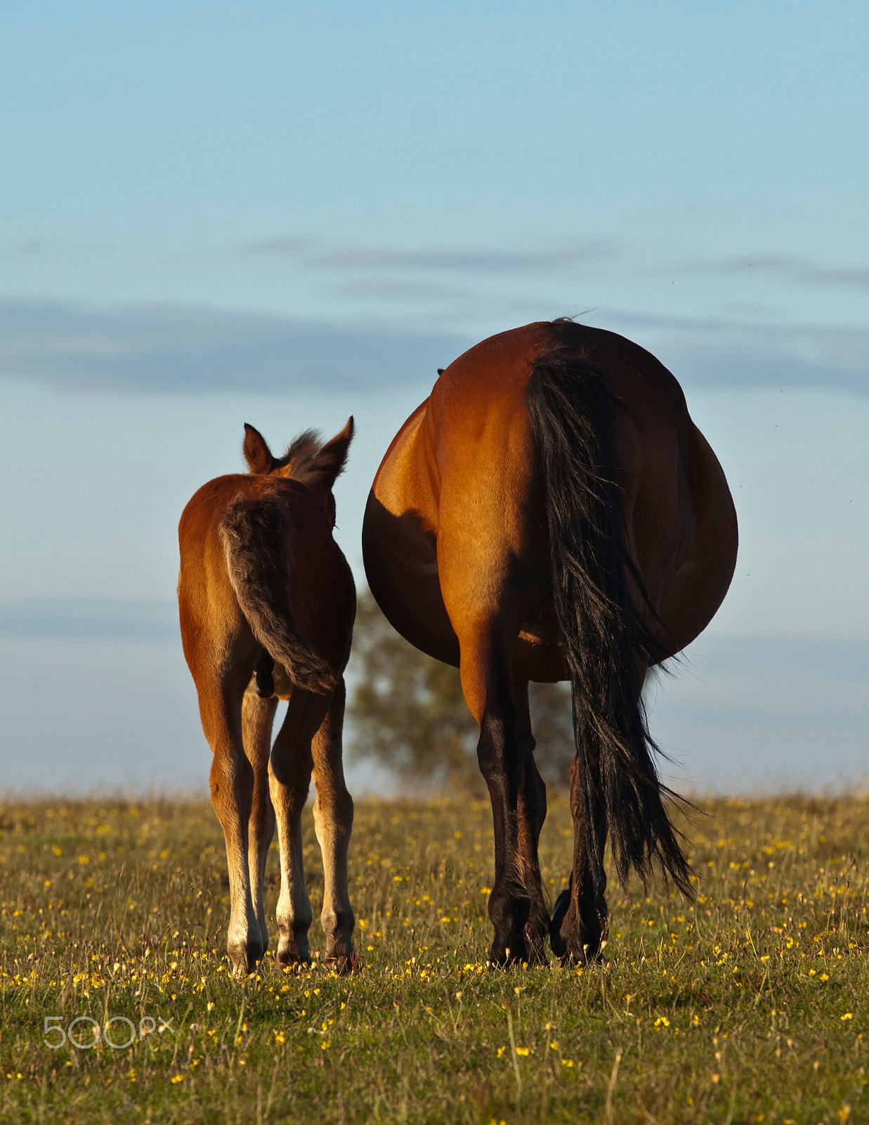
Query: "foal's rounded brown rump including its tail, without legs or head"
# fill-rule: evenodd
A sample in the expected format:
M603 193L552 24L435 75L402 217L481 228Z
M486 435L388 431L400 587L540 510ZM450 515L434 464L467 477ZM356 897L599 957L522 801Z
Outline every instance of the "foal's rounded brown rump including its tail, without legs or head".
M181 636L191 670L233 681L241 674L246 684L260 649L256 670L274 662L271 688L279 694L291 684L333 691L346 629L335 623L343 626L344 605L331 603L350 605L354 594L338 596L346 562L306 486L265 475L217 477L184 508L179 541Z

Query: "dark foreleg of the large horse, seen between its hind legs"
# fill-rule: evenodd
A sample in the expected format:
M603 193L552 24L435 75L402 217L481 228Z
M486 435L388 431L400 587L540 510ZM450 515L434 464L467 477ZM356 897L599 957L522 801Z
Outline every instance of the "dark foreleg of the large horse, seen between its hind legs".
M531 731L526 680L515 683L515 700L525 750L517 804L518 860L522 882L531 903L528 920L525 922L525 943L529 960L544 961L543 948L549 937L550 917L543 899L537 845L543 821L546 819L546 785L534 760L534 736Z

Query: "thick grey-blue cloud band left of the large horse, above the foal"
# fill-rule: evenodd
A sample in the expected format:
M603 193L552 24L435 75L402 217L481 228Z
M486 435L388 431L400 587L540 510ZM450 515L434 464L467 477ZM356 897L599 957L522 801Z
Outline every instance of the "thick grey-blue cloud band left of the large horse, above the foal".
M0 299L0 379L84 394L375 389L429 379L473 342L174 304Z

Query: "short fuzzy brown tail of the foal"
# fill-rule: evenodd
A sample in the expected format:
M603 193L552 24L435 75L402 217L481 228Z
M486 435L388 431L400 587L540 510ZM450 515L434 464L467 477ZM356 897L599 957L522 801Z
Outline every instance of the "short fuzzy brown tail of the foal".
M337 673L311 651L292 620L291 529L277 496L236 496L220 521L226 569L254 637L298 687L325 695Z

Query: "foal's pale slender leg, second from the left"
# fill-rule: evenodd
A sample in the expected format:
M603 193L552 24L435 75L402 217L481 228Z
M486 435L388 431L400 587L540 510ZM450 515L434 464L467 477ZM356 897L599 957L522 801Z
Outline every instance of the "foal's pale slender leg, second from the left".
M278 709L277 699L261 699L247 687L242 700L242 735L244 753L253 770L253 798L247 822L247 865L251 880L251 900L260 924L263 952L269 948L265 925L264 883L265 862L274 835L274 809L269 793L269 753L272 742L272 722Z

